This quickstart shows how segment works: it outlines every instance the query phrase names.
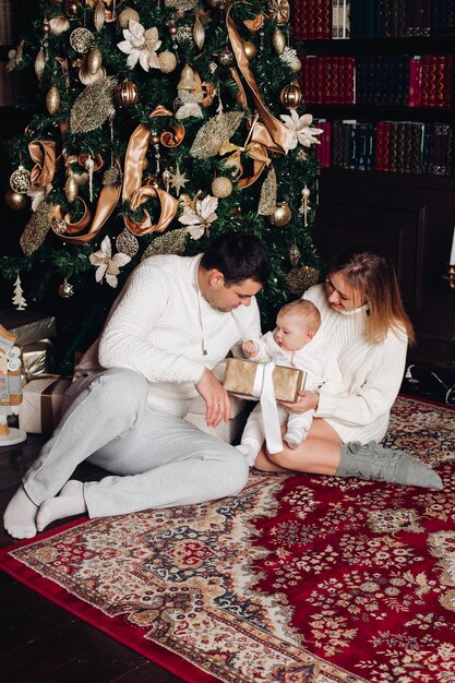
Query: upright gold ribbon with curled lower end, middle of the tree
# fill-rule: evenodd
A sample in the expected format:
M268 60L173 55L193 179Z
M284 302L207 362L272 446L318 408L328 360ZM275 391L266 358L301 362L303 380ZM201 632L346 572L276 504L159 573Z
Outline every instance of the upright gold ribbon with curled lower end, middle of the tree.
M169 109L159 105L156 107L149 118L154 118L157 116L173 116ZM172 128L172 127L171 127ZM183 127L182 127L183 128ZM172 128L175 130L175 134L177 135L177 131L179 127L176 125ZM183 129L184 134L184 129ZM165 133L161 133L160 140ZM171 133L169 133L171 135ZM155 225L152 224L151 216L147 211L144 209L144 217L136 223L129 216L124 216L124 225L127 228L135 235L140 237L141 235L147 235L148 232L164 232L172 218L176 216L179 202L171 194L161 190L160 188L155 188L153 185L141 185L142 183L142 169L143 161L145 159L145 155L148 149L151 137L151 130L144 123L140 123L137 128L131 134L130 141L128 143L128 149L124 158L124 172L123 172L123 192L122 200L130 201L130 207L132 211L139 208L146 202L149 197L156 196L159 200L161 212L158 219L158 223ZM183 137L181 137L183 140ZM177 146L180 144L180 141L175 141L175 144L169 144L170 139L166 137L166 142L168 146ZM161 140L163 142L163 140ZM165 144L165 143L164 143Z

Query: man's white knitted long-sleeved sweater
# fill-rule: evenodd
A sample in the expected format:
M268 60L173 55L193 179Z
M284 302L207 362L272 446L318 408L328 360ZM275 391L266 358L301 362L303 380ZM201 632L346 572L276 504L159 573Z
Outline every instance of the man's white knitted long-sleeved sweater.
M258 303L214 309L197 285L197 256L151 256L116 300L104 331L76 368L129 368L148 381L148 405L183 417L195 384L238 345L261 334ZM125 387L128 391L128 387Z

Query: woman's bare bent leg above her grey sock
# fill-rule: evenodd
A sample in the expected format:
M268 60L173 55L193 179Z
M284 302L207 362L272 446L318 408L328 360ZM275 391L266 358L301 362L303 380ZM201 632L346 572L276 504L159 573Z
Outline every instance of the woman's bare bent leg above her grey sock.
M339 466L342 441L321 418L313 420L308 438L295 450L284 444L283 451L271 454L263 447L254 467L262 471L298 471L334 476Z

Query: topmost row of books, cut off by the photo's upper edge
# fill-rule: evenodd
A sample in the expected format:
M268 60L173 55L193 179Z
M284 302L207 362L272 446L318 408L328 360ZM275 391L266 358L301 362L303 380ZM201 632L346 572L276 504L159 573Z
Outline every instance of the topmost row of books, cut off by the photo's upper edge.
M295 0L302 40L454 35L455 0Z

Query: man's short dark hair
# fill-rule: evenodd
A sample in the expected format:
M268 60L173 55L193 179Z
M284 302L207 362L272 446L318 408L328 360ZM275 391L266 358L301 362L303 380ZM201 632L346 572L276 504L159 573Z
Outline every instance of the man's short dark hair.
M265 247L249 232L229 232L214 239L202 256L201 266L223 273L227 286L246 279L265 285L271 276Z

